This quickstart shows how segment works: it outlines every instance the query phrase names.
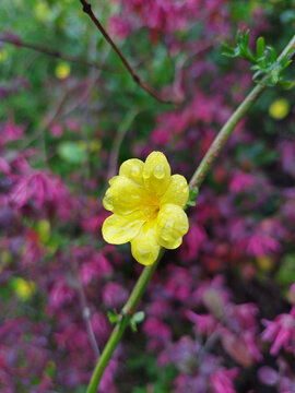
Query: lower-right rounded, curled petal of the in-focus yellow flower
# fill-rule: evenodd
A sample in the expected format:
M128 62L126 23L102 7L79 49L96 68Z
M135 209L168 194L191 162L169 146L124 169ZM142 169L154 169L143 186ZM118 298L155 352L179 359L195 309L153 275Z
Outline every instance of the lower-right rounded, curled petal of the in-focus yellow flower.
M188 231L188 217L176 204L167 203L157 215L157 241L167 249L176 249L182 242L182 236Z

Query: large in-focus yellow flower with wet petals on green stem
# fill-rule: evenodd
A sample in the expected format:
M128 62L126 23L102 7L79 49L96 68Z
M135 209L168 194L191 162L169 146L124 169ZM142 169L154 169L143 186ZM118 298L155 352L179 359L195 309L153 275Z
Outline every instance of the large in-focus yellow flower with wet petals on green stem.
M163 153L151 153L145 163L128 159L109 184L104 206L114 214L103 225L107 242L130 241L132 255L144 265L155 262L161 247L181 245L189 228L184 212L189 188L184 176L170 175Z

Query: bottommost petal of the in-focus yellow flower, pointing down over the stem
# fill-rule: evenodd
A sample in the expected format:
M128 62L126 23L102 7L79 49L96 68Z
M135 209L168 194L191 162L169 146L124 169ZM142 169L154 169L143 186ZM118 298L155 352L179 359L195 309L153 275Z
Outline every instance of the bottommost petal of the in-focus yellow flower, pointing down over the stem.
M141 264L151 265L157 259L160 245L156 241L155 222L146 223L131 241L133 258Z

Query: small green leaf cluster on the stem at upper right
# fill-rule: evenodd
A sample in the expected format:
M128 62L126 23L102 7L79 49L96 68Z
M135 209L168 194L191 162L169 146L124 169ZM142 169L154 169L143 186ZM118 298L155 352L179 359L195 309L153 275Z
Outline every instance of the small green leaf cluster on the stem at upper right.
M223 55L250 61L252 63L251 70L255 72L252 80L257 83L263 83L267 86L281 85L283 88L292 88L294 82L286 81L283 78L283 71L292 62L290 52L279 58L276 50L266 45L263 37L257 39L256 51L252 52L249 47L249 29L244 32L238 31L236 35L236 47L234 48L223 43Z

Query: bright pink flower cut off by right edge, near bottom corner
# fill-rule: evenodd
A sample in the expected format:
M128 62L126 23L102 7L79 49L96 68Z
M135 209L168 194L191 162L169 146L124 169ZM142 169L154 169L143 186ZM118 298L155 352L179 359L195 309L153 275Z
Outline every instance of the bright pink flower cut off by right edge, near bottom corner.
M290 313L278 315L274 321L262 320L267 326L262 340L272 343L271 355L276 355L281 348L295 355L295 306Z

